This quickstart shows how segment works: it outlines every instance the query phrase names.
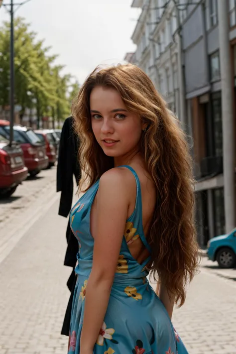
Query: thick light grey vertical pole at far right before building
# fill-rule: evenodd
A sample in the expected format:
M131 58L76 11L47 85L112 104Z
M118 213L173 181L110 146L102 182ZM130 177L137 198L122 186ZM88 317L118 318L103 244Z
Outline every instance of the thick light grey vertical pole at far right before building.
M229 42L228 1L218 0L222 90L223 166L226 232L236 226L236 146L233 114L232 64Z

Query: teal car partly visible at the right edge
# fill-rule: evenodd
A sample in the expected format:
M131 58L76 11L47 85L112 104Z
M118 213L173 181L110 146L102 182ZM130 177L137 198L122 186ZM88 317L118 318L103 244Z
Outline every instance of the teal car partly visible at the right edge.
M236 229L230 234L211 238L207 244L207 254L221 268L233 268L236 264Z

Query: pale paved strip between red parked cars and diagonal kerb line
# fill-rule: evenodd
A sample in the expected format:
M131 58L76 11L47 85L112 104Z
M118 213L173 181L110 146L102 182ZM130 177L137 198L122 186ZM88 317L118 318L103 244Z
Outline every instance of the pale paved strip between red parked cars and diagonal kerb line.
M41 171L19 185L9 199L0 199L0 262L11 251L44 211L44 206L58 196L56 167Z

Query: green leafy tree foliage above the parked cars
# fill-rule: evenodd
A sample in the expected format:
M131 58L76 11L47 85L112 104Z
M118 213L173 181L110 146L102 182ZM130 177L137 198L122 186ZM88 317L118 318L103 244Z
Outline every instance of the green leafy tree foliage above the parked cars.
M0 106L9 105L10 24L0 27ZM71 93L75 83L71 75L62 74L63 66L56 65L56 55L50 55L50 47L36 39L36 33L21 17L14 21L14 70L15 104L26 108L35 107L38 120L43 116L55 120L70 114ZM76 88L78 88L78 82Z

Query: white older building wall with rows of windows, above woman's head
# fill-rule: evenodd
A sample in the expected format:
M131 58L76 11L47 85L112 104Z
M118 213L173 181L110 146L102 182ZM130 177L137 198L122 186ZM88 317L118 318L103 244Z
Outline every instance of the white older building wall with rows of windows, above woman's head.
M136 63L153 81L169 108L179 115L179 94L177 79L177 20L174 3L166 0L149 0L142 6L142 12L132 35L137 45ZM159 8L158 8L159 7ZM183 16L184 19L184 16Z

